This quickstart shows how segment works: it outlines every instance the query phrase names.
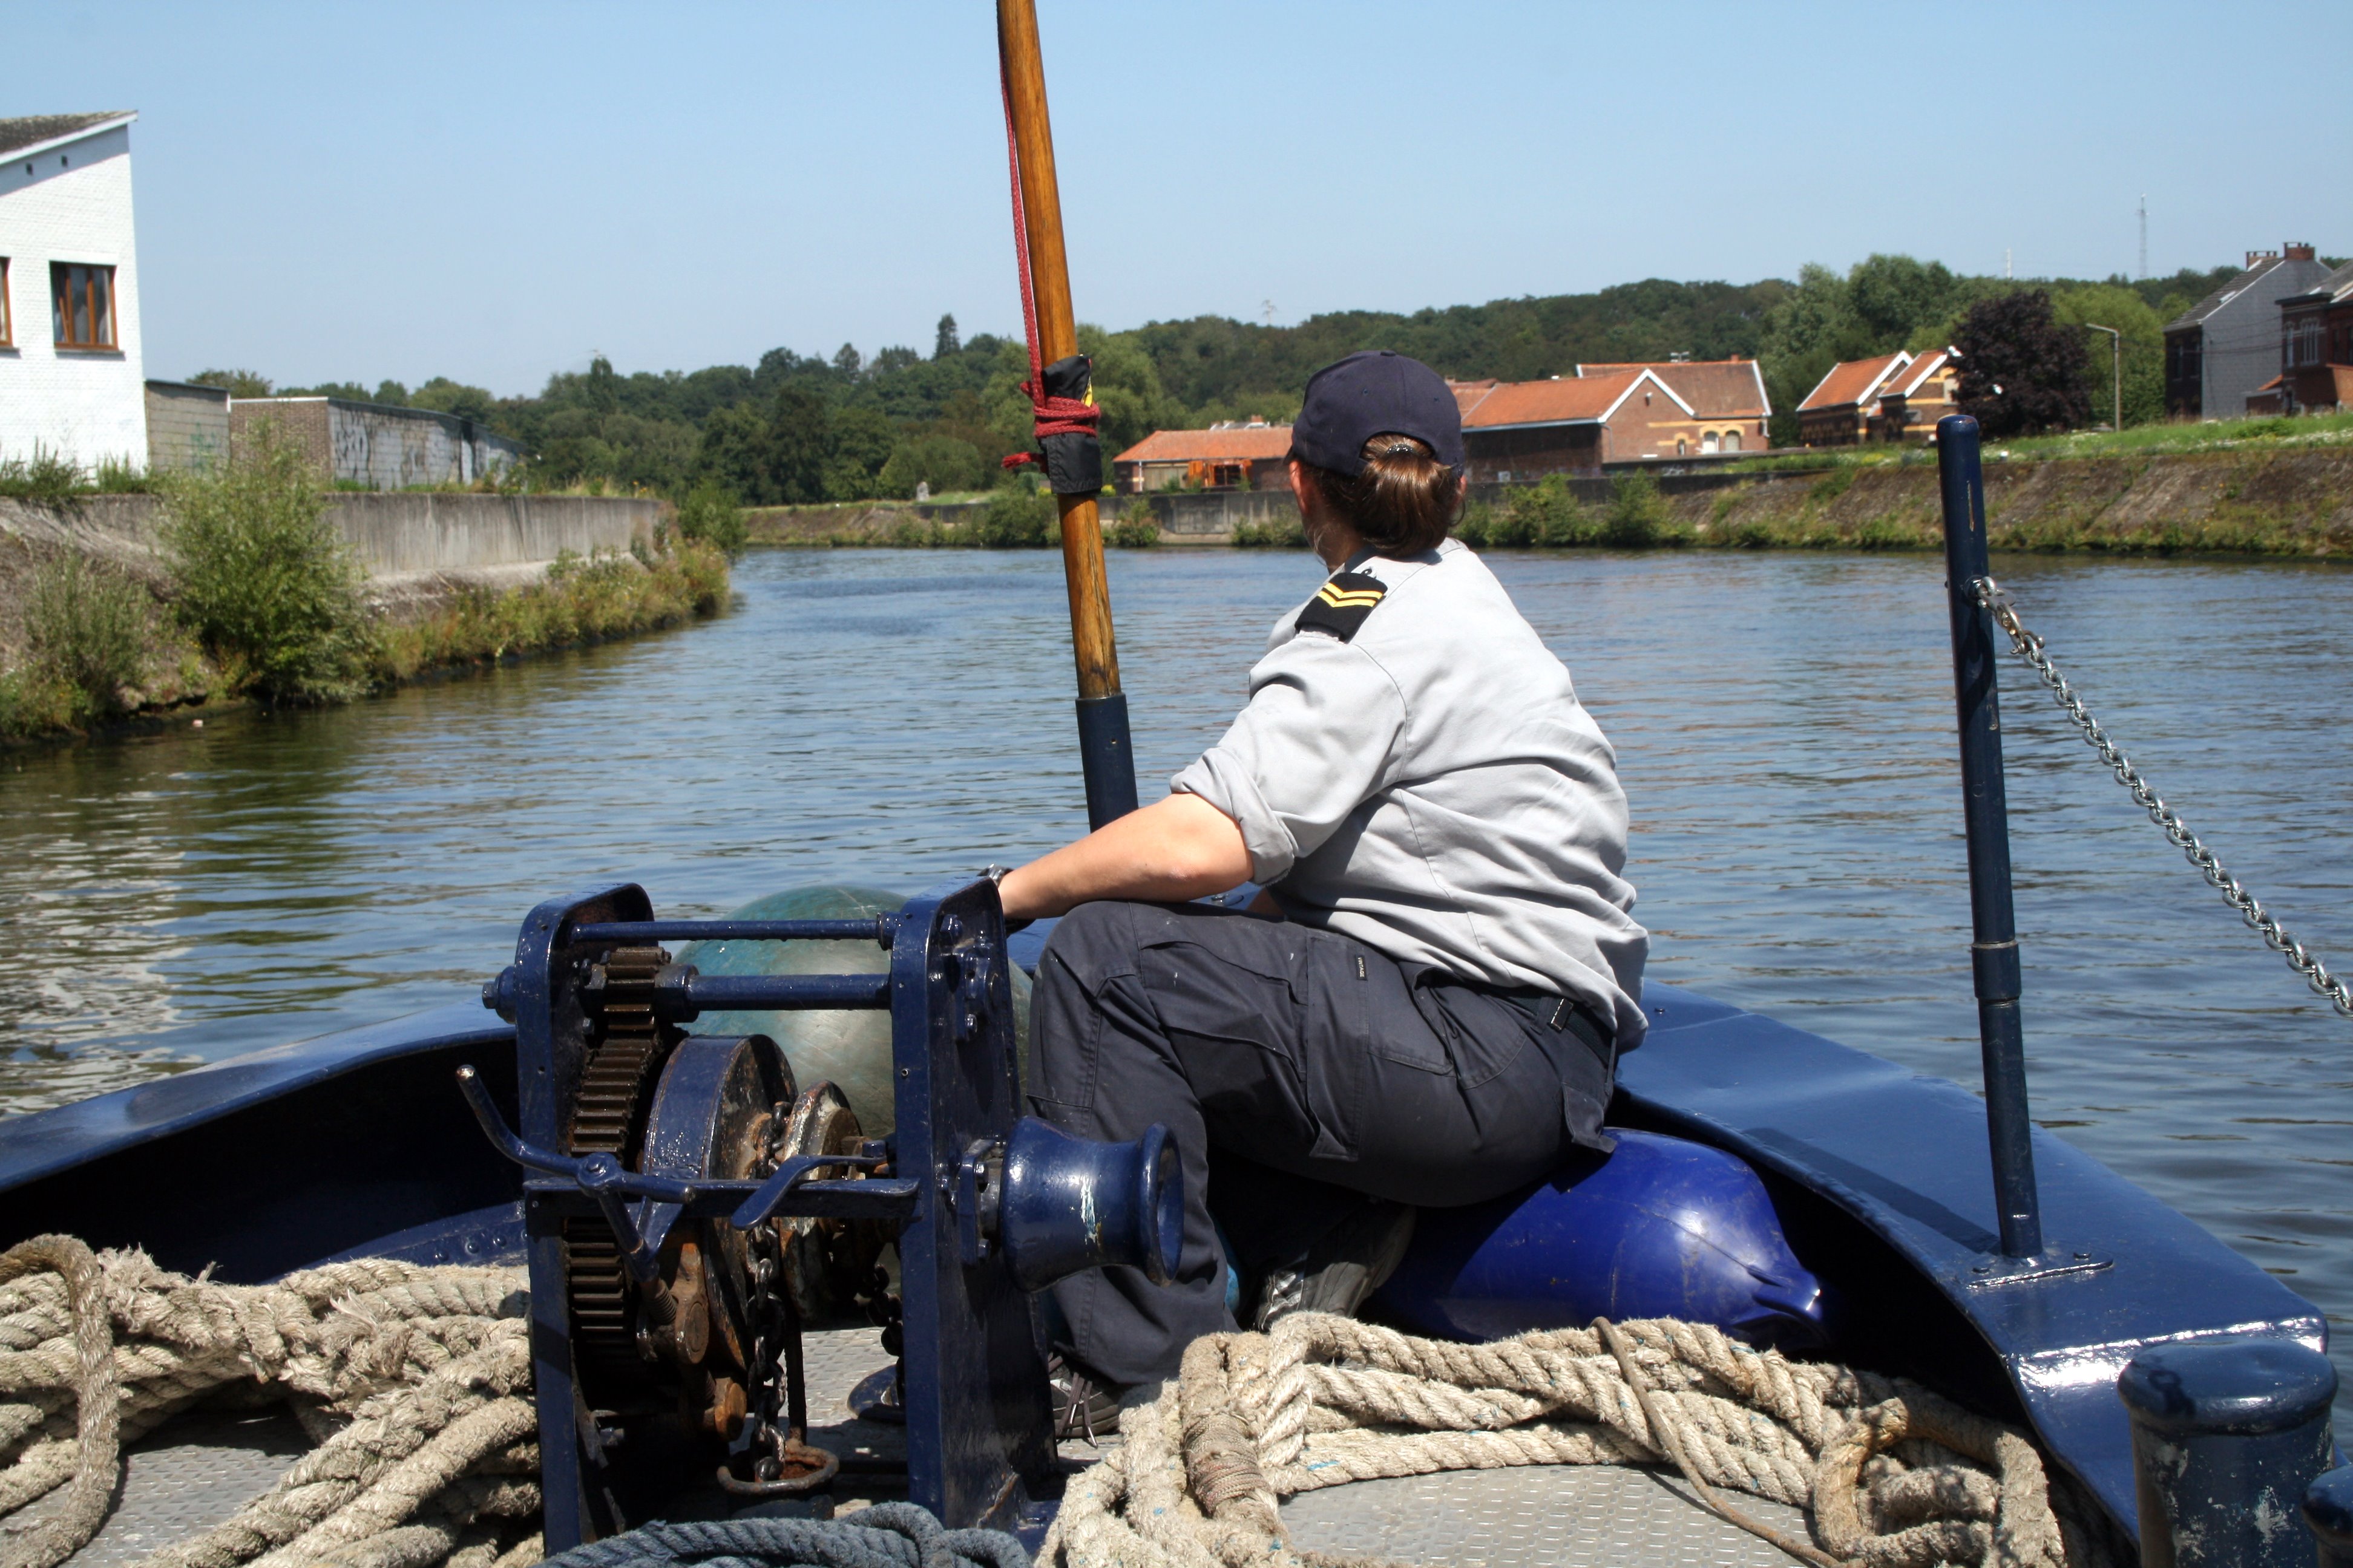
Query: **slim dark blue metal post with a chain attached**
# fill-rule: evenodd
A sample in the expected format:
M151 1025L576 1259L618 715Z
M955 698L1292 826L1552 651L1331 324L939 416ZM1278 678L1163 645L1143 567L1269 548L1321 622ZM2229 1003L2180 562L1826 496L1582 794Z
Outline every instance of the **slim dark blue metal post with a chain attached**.
M2002 795L2002 708L1993 668L1993 611L1969 583L1986 567L1986 477L1977 421L1937 421L1937 482L1944 491L1944 574L1953 611L1953 696L1960 705L1960 790L1969 830L1969 966L1977 980L1977 1037L1986 1063L1986 1135L1993 1145L1993 1201L2002 1253L2042 1251L2035 1197L2033 1124L2026 1119L2026 1044L2019 1032L2019 929L2009 907L2009 802Z

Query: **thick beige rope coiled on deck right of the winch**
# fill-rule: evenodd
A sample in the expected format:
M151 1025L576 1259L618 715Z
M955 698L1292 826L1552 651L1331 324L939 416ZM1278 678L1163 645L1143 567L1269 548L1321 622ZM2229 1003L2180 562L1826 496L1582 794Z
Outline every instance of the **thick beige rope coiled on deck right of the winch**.
M1711 1507L1821 1566L2111 1568L2097 1505L2019 1432L1911 1382L1788 1361L1715 1328L1595 1324L1452 1345L1294 1314L1195 1340L1122 1446L1071 1481L1042 1561L1299 1568L1294 1493L1508 1465L1678 1467ZM1802 1507L1793 1540L1725 1493Z

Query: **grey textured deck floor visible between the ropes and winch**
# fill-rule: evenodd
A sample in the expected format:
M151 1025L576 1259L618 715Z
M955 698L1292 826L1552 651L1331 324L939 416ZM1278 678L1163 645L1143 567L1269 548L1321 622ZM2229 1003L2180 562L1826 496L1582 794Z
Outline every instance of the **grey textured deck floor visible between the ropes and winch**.
M873 1328L807 1335L814 1443L866 1460L904 1458L896 1427L849 1413L849 1389L887 1363ZM120 1507L68 1566L122 1568L209 1530L266 1493L304 1450L301 1427L289 1415L174 1422L127 1450ZM1078 1465L1099 1453L1092 1443L1064 1443L1064 1458ZM892 1495L887 1476L842 1474L835 1483L845 1514ZM21 1521L31 1523L61 1500L64 1493L52 1493ZM1795 1509L1741 1502L1805 1535ZM1605 1465L1358 1481L1292 1497L1282 1519L1301 1549L1405 1563L1784 1568L1798 1561L1711 1514L1678 1476Z

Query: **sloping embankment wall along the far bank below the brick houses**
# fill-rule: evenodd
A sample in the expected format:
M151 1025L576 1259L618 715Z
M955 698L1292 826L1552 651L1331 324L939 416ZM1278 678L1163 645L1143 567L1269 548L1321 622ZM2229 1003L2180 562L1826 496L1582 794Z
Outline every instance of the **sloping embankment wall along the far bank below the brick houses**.
M1605 508L1617 480L1569 480ZM1687 543L1812 548L1934 545L1937 468L1861 465L1809 473L1664 473L1659 494ZM1508 505L1518 484L1473 484L1471 501ZM1106 520L1153 508L1160 543L1224 545L1235 524L1297 517L1289 491L1106 496ZM953 524L976 503L868 501L746 512L751 538L774 545L892 543L901 529ZM2153 456L1988 461L1986 510L1995 548L2242 550L2353 555L2353 449L2235 449Z

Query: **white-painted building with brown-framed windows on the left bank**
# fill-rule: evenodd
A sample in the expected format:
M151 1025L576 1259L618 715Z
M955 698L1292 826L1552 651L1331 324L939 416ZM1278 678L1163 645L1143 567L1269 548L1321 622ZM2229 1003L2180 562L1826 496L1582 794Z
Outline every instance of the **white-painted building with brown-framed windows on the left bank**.
M0 120L0 458L146 468L132 120Z

